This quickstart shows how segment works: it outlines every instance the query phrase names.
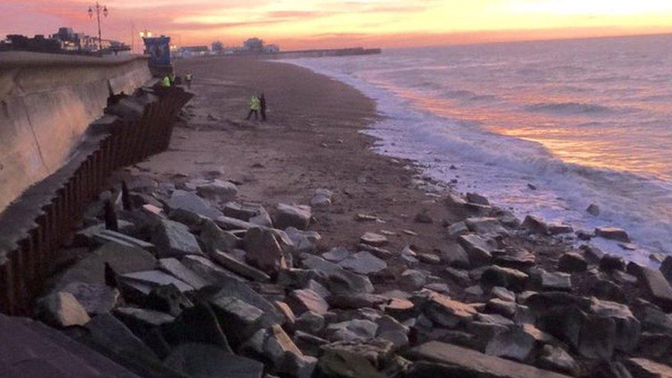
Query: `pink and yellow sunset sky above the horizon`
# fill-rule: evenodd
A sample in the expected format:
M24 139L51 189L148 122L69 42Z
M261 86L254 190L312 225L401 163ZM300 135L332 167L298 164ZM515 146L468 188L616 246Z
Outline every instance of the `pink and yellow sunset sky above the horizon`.
M0 35L96 34L92 1L0 0ZM672 0L110 0L103 38L145 28L181 45L248 36L284 50L672 32ZM138 44L136 38L136 45Z

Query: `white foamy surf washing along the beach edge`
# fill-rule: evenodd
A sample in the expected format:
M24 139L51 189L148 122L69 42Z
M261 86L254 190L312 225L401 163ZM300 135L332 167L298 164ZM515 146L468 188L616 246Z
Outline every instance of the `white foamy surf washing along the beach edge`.
M330 65L313 65L311 64L311 61L302 59L296 60L293 64L299 65L300 67L306 67L317 74L324 74L330 78L335 78L336 80L351 85L363 92L366 96L375 98L375 101L386 102L383 104L383 107L386 108L386 112L392 114L392 118L397 116L398 112L401 113L399 116L402 117L413 117L412 114L419 112L419 110L415 109L413 106L400 105L400 103L396 102L397 99L395 96L386 92L386 90L377 88L375 85L359 78L331 70L330 68L333 67ZM390 100L394 105L390 106L390 104L387 103L390 102ZM402 110L397 109L399 106L403 107ZM419 114L417 115L419 116ZM454 120L451 120L450 118L443 118L437 114L431 114L430 116L432 117L432 120L428 121L428 123L436 123L437 120L443 123L454 122ZM423 122L423 118L413 118L413 120L415 122ZM428 127L428 129L430 128ZM488 182L489 180L483 179L485 175L482 173L479 174L479 169L483 169L483 165L497 166L498 164L494 162L474 163L470 162L469 158L455 158L454 156L443 154L443 145L432 145L432 140L429 140L432 136L441 139L441 134L432 134L434 132L430 131L428 132L429 136L424 137L427 140L406 137L402 135L403 130L399 127L395 127L394 122L390 125L384 125L383 127L370 127L365 130L366 134L380 140L381 143L375 146L377 153L388 156L389 158L413 160L417 165L417 169L420 170L420 177L428 177L432 178L432 180L437 180L438 182L441 182L441 186L445 188L450 188L453 191L459 191L463 194L467 191L476 190L489 198L492 196L496 204L511 209L516 216L521 217L521 219L527 215L532 215L549 223L565 224L573 227L576 231L588 233L593 232L593 230L598 227L618 227L624 229L624 231L629 233L633 239L633 242L629 243L627 246L622 246L617 242L613 242L613 240L603 238L595 238L592 242L607 253L620 255L627 261L657 268L660 266L662 258L669 255L670 251L667 246L668 243L666 243L669 237L667 233L664 232L664 227L661 227L661 223L658 222L659 218L651 218L652 214L650 209L644 209L648 212L644 210L638 212L635 211L635 209L628 208L623 209L622 207L613 205L612 202L618 202L620 200L625 200L626 198L622 196L605 196L604 193L605 185L608 184L609 180L614 180L614 176L619 178L632 178L633 182L631 182L631 186L622 189L624 191L635 190L636 187L641 187L644 184L638 182L641 180L649 180L649 178L638 176L637 174L629 173L627 171L582 166L576 162L566 162L565 160L556 158L552 151L534 140L527 141L514 136L498 134L489 129L481 129L479 132L494 138L512 138L516 139L518 143L533 143L538 145L539 148L545 149L545 153L549 156L549 161L546 162L546 165L544 166L545 169L552 172L558 170L565 172L565 170L567 170L571 173L576 171L578 177L575 177L575 179L578 181L574 182L574 185L578 185L578 187L572 187L573 189L578 190L578 193L585 193L586 190L588 190L587 193L598 192L589 196L591 197L591 201L587 201L580 195L567 193L567 191L571 192L570 189L564 187L560 188L553 185L553 180L558 179L558 176L544 176L538 172L518 173L517 171L507 171L507 167L488 171L488 174L498 175L509 173L512 174L514 178L507 181L505 185L492 185ZM399 134L399 136L396 136L396 134ZM470 139L467 139L465 145L468 145L470 141ZM423 148L424 146L428 148L428 152L423 154L415 152L417 149ZM459 149L460 145L457 145L456 147L448 145L448 148ZM432 151L436 155L430 154L429 151ZM441 160L445 159L445 161L441 161L437 164L439 159L433 158L434 156L437 156ZM507 156L503 157L508 158ZM451 165L450 169L448 169L449 165ZM457 169L453 171L452 169L455 168L454 166L456 166ZM534 167L528 168L534 169ZM591 171L592 174L596 176L592 178L588 176L582 177L582 172L586 170ZM448 174L448 172L450 172L450 174ZM606 175L607 177L602 177L602 175ZM596 184L595 187L582 186L585 185L582 183L582 180L588 180L589 178L591 180L596 180L598 184ZM652 179L645 184L648 185L648 187L655 187L655 185L660 185L661 183L664 184L666 182L659 179ZM507 195L502 194L510 191L512 193ZM513 197L513 199L507 200L507 196ZM532 205L529 203L532 203ZM598 206L599 215L594 215L590 211L587 211L589 207L595 206ZM647 227L643 227L642 224L649 224L652 229L647 229ZM662 224L664 224L664 222ZM578 247L581 243L582 240L577 239L574 246Z

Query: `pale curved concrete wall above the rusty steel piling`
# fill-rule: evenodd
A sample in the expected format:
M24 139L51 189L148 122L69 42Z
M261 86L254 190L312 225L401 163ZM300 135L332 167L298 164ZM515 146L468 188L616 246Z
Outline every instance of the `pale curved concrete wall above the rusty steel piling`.
M110 94L149 79L143 56L0 53L0 213L67 162Z

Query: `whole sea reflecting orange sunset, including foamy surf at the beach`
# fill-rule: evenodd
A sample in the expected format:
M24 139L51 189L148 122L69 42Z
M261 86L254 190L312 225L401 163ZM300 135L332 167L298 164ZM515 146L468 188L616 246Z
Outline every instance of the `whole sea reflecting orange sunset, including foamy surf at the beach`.
M363 132L380 154L414 160L423 175L521 219L620 227L633 245L591 243L627 260L672 253L672 34L291 63L377 101L382 117Z

